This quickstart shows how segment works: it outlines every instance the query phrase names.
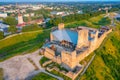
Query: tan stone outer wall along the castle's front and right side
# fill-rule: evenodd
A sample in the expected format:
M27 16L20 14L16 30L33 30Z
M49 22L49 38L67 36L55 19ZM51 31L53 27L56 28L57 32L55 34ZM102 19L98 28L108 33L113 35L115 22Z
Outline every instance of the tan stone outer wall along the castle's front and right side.
M112 29L109 31L105 32L103 35L101 35L100 38L97 38L98 34L96 34L96 39L95 41L90 43L90 46L87 50L84 52L81 52L79 54L76 54L76 51L73 52L67 52L67 51L62 51L61 56L55 56L55 52L49 48L45 49L44 55L45 57L52 59L52 61L57 62L59 64L64 63L64 67L74 69L77 64L81 60L83 60L85 57L87 57L91 52L93 52L95 49L97 49L101 43L103 42L104 38L112 32Z

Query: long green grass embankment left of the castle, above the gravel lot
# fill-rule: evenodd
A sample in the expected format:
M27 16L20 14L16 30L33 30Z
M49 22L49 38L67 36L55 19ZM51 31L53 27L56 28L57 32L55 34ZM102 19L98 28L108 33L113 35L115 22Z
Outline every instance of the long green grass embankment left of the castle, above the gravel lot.
M50 31L33 31L18 34L0 41L0 61L17 54L35 51L40 48Z

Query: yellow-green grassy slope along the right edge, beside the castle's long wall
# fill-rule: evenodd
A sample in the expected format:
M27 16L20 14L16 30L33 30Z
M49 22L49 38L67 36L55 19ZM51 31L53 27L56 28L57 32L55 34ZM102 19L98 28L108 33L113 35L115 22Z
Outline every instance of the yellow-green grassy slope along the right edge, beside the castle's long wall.
M108 37L81 80L120 79L120 24Z

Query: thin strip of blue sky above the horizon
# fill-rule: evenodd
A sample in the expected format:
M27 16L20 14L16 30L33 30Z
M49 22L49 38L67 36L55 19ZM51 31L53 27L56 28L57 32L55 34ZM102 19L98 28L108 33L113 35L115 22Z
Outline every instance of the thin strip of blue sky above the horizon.
M0 0L0 2L63 2L63 1L120 1L120 0Z

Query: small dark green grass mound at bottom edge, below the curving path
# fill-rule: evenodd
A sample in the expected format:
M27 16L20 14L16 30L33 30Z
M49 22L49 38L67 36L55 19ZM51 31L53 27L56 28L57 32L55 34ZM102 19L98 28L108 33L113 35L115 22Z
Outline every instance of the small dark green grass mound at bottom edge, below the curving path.
M41 72L37 74L35 77L33 77L32 80L57 80L57 79L53 78L52 76L49 76L48 74Z

